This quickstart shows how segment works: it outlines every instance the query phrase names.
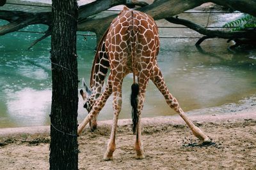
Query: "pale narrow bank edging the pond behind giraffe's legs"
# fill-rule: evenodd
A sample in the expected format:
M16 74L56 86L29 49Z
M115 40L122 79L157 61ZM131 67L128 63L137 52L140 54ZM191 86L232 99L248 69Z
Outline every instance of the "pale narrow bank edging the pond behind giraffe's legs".
M188 117L195 124L203 124L203 123L223 123L223 122L236 122L247 119L256 119L256 106L252 106L252 108L245 109L243 111L236 112L228 112L225 114L212 114L212 115L200 115L193 114ZM102 120L98 122L98 127L112 124L112 120ZM143 125L184 125L185 122L180 118L179 115L173 116L159 116L159 117L150 117L150 118L142 118ZM131 125L130 119L120 119L118 120L118 126ZM88 129L88 125L86 125L85 129ZM4 127L0 128L0 137L8 137L8 136L19 136L20 134L49 134L50 126L28 126L28 127Z

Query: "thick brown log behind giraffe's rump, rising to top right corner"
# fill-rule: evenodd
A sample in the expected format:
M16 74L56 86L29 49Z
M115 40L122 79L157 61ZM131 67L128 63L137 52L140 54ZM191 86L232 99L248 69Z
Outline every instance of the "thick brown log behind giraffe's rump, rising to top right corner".
M139 8L139 11L143 11L147 13L148 15L151 15L155 20L159 20L162 18L168 18L172 17L174 15L177 15L179 13L182 13L183 11L190 10L195 8L196 6L200 6L203 3L207 3L210 1L207 0L159 0L155 1L154 3L145 6L143 8ZM213 3L221 4L225 6L229 6L230 8L233 8L234 10L240 10L240 11L248 11L251 15L256 16L256 1L248 1L248 0L211 0ZM244 2L244 3L243 3ZM245 4L248 3L248 4ZM239 6L236 6L236 4L239 4ZM255 4L255 5L254 5ZM247 8L251 8L253 10L246 10ZM115 18L116 15L111 15L109 17L105 18L97 18L97 19L89 19L85 20L83 23L79 24L78 29L79 31L92 31L97 34L97 36L101 36L104 31L108 28L109 24ZM99 38L98 38L99 39Z

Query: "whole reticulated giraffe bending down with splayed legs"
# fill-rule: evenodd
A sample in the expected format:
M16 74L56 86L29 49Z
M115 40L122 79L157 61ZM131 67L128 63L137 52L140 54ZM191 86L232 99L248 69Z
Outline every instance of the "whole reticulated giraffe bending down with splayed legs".
M97 115L104 107L108 97L113 93L113 124L108 148L104 153L104 160L113 159L113 152L115 152L116 147L118 115L122 106L122 82L129 73L133 74L132 96L134 99L131 99L131 104L135 103L132 104L132 111L136 120L132 122L133 130L136 132L136 159L145 158L141 141L141 110L143 109L149 80L152 80L157 89L163 94L168 106L179 113L180 117L188 124L196 138L204 143L211 141L204 132L189 120L180 108L177 99L170 94L157 65L158 53L159 35L154 19L145 13L124 7L99 43L92 68L90 83L90 88L93 89L92 92L88 87L86 87L86 92L80 91L85 101L84 107L89 114L79 125L78 134L91 120L93 124L91 129L97 126ZM108 83L106 89L100 94L108 68L110 69ZM138 90L138 92L136 93L134 90ZM86 96L86 94L89 94L89 96Z

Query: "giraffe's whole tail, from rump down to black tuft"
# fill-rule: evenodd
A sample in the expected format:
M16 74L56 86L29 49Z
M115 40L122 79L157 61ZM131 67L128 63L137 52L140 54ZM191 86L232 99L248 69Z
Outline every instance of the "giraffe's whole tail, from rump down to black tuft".
M134 13L131 10L131 19L129 21L129 32L130 32L130 45L131 45L131 57L132 57L132 73L133 73L133 84L132 84L132 94L131 94L131 106L132 106L132 131L136 132L136 127L138 124L138 94L139 94L139 85L136 83L135 74L136 74L136 41L137 41L137 31L134 27Z

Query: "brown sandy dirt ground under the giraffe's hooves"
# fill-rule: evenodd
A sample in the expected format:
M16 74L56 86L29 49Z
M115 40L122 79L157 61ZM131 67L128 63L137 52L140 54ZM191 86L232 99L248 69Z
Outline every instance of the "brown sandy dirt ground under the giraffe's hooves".
M102 159L111 121L99 122L95 132L86 127L78 139L79 169L256 169L255 112L200 117L192 120L212 139L211 145L200 145L179 117L143 119L143 160L135 159L131 120L118 122L112 161ZM0 130L0 169L49 169L49 132Z

